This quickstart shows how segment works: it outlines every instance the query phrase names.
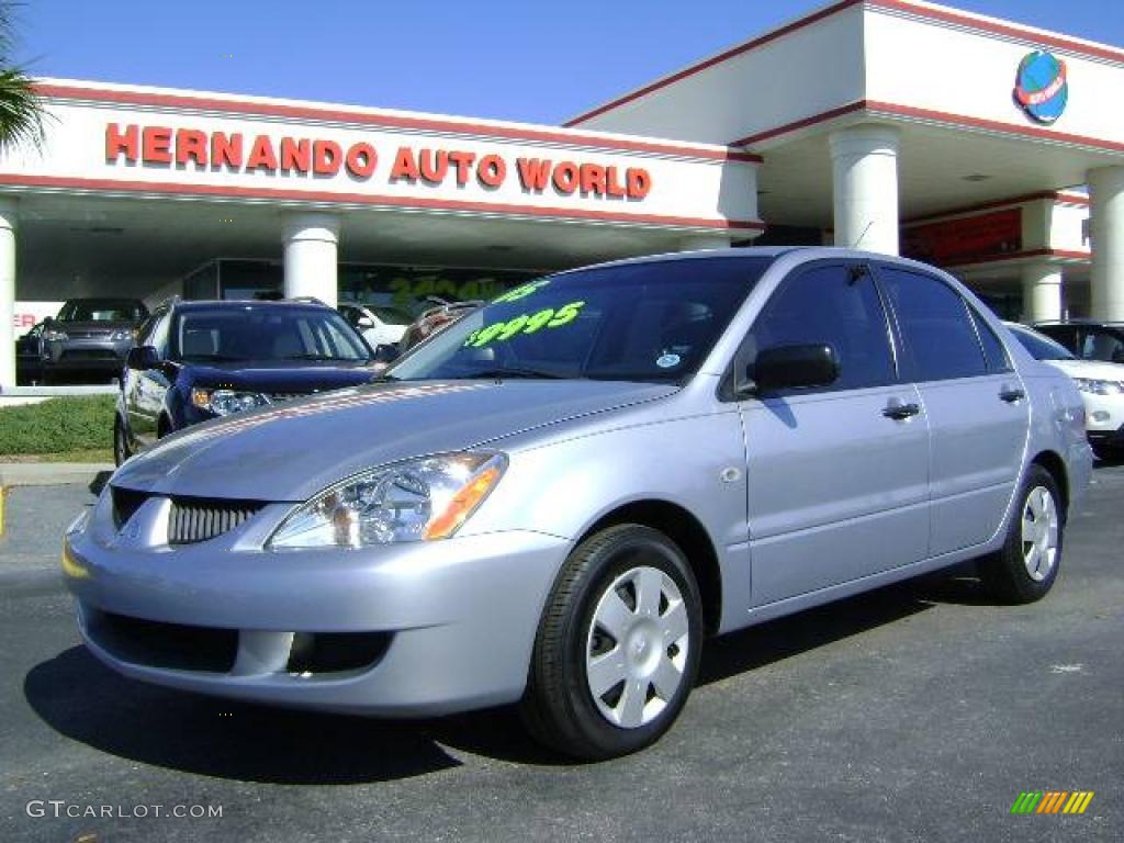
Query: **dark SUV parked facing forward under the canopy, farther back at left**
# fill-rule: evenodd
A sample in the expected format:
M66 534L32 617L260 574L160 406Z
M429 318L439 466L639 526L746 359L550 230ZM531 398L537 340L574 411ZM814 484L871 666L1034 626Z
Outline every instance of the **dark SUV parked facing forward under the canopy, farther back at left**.
M137 299L69 299L39 335L43 379L117 378L148 308Z

